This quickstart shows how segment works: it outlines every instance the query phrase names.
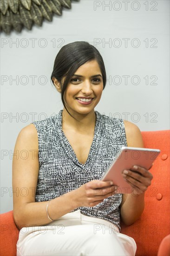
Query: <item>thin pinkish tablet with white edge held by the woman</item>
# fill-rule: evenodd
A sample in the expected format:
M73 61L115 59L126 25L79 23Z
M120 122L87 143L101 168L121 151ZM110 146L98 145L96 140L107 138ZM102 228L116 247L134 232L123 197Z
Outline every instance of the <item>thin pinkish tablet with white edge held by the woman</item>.
M159 153L159 149L122 147L101 180L112 181L113 185L119 186L116 193L130 194L133 188L124 180L122 171L133 165L149 169Z

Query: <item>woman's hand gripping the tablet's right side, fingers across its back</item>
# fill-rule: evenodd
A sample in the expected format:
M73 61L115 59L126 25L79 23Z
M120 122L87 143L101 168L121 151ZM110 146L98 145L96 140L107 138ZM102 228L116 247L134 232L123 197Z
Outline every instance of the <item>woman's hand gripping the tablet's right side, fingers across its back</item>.
M147 169L137 165L129 170L124 170L122 175L132 188L137 189L137 194L142 194L150 186L153 178Z

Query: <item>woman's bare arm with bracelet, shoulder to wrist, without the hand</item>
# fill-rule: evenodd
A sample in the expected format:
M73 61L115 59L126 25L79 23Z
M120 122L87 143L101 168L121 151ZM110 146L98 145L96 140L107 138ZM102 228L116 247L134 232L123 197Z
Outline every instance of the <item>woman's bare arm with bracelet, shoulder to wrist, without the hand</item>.
M23 128L18 135L13 156L13 216L18 228L24 225L41 226L51 222L46 214L46 202L35 202L39 174L38 136L33 124ZM24 151L22 151L24 150ZM24 155L24 152L26 154ZM26 157L28 156L28 157ZM55 198L49 203L49 216L59 218L77 207L72 193ZM60 207L62 204L63 207ZM53 213L53 214L51 214ZM51 214L51 215L50 215ZM52 217L51 217L52 218Z

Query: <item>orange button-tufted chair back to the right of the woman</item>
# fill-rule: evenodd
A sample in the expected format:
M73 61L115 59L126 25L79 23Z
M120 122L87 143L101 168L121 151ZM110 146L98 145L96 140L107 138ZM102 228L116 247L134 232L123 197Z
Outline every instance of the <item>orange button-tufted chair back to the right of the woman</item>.
M137 243L136 256L156 256L162 239L170 234L170 131L142 132L145 148L161 153L150 172L153 179L145 192L145 209L133 225L122 228Z

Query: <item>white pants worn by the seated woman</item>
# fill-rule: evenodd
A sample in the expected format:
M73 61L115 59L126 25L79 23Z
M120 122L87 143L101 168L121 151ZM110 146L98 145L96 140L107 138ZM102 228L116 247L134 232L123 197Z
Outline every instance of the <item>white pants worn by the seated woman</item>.
M79 209L46 226L20 229L17 242L17 256L134 256L136 249L116 225Z

